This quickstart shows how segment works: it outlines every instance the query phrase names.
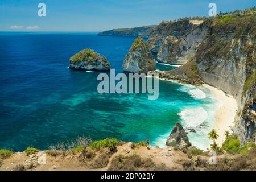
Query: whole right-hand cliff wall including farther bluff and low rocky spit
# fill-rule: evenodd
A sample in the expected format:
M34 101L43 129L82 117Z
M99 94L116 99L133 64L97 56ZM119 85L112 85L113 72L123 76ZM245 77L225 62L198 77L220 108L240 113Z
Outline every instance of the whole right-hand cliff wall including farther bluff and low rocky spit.
M156 32L151 38L155 35ZM200 84L203 81L231 94L238 104L234 133L242 143L247 139L255 140L255 10L207 19L196 27L188 28L181 38L167 36L158 49L162 40L155 38L155 42L148 42L153 51L158 51L159 61L170 64L188 62L172 71L154 72L158 72L160 77L181 82Z

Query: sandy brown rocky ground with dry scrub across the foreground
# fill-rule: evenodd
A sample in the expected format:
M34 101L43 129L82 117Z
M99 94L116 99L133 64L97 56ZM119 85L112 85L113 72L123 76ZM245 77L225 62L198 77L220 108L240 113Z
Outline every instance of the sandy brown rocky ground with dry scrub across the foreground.
M25 152L15 153L0 160L0 170L256 170L255 150L246 155L217 154L216 164L213 164L213 154L209 152L195 155L175 147L137 146L133 149L132 146L131 142L121 144L114 153L102 148L85 160L80 154L72 155L71 152L65 157L61 152L56 156L47 154L46 164L39 164L42 152L30 156Z

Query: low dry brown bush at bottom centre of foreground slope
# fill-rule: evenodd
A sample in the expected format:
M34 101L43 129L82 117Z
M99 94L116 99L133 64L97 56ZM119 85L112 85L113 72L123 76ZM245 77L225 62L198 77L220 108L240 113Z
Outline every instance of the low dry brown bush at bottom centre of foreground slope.
M110 171L135 171L135 170L156 170L164 171L168 170L165 164L155 164L150 158L142 159L139 155L131 156L116 156L108 170Z

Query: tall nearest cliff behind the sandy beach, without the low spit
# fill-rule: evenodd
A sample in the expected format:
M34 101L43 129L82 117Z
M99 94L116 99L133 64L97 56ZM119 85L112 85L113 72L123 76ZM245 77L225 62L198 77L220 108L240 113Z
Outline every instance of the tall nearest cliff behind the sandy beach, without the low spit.
M255 130L255 117L246 120L250 113L246 105L255 100L255 14L225 16L205 24L209 31L196 54L197 70L204 82L236 98L239 111L234 131L245 143Z

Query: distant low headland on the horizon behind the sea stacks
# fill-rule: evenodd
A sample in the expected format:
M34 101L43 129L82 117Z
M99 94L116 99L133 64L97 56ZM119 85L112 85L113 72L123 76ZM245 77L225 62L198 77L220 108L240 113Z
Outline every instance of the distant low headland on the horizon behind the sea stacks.
M139 36L141 38L148 38L152 34L155 28L156 28L155 25L135 27L135 28L119 28L119 29L100 32L98 35L99 36L134 36L134 37Z

